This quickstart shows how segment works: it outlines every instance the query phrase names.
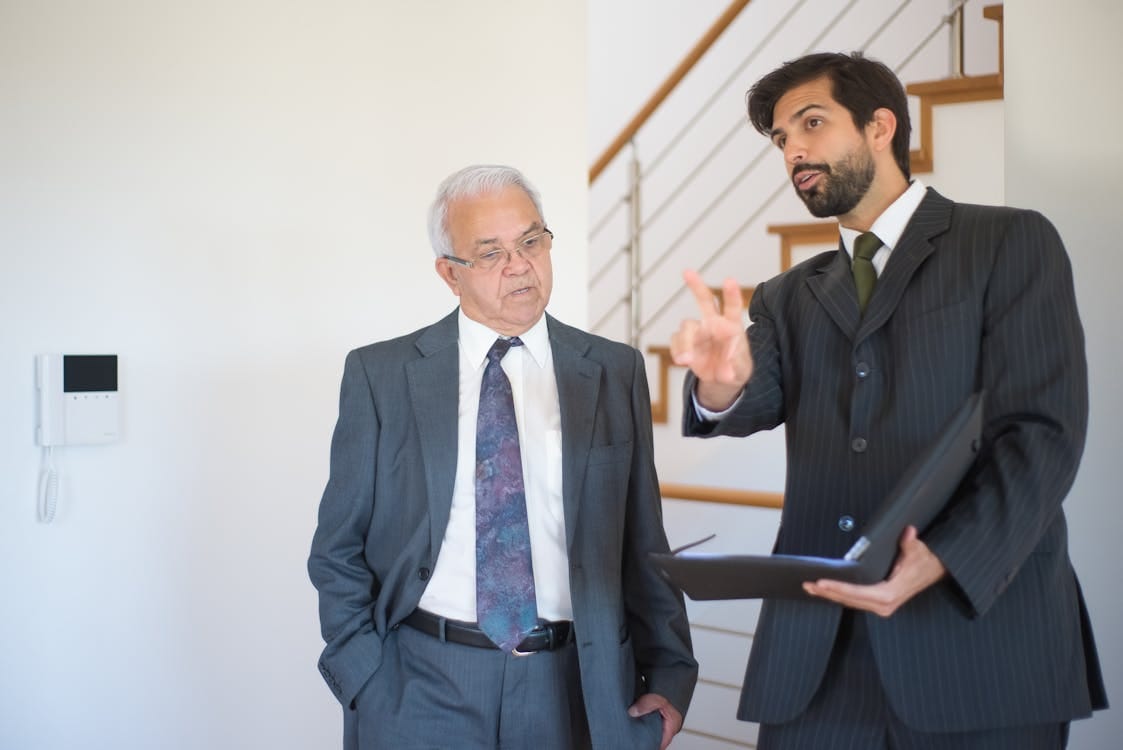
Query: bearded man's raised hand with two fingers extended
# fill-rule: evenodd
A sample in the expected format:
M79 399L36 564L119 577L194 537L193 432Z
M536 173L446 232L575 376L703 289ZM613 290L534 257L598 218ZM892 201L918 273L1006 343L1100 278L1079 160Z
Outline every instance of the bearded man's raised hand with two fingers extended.
M699 378L695 392L699 403L711 411L722 411L737 400L752 374L752 355L741 320L745 312L741 287L727 278L719 310L697 273L685 271L683 278L697 301L701 320L682 322L670 337L670 356L676 365L690 367Z

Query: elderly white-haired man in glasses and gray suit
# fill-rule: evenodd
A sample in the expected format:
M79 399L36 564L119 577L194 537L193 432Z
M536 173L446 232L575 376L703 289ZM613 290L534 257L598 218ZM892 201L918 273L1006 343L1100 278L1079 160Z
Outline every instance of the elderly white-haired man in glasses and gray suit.
M518 171L453 174L429 234L459 309L347 356L309 560L345 746L666 748L697 665L642 357L545 313Z

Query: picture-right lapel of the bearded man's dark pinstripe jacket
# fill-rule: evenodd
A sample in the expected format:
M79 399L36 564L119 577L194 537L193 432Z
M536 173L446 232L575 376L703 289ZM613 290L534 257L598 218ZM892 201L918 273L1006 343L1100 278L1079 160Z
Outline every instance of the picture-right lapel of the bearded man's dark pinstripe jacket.
M951 226L953 205L951 201L929 188L924 200L916 207L912 219L905 226L897 246L893 248L889 262L877 278L874 295L858 329L859 341L884 326L893 315L909 282L924 259L935 249L932 238L946 232Z

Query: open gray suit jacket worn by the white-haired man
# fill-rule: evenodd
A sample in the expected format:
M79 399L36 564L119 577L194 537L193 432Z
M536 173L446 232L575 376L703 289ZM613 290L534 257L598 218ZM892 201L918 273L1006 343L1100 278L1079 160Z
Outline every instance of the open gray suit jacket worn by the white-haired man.
M641 355L547 317L562 411L563 503L582 689L594 747L636 747L628 706L685 714L697 665L666 550ZM347 356L309 573L320 671L348 710L440 554L457 460L457 313Z

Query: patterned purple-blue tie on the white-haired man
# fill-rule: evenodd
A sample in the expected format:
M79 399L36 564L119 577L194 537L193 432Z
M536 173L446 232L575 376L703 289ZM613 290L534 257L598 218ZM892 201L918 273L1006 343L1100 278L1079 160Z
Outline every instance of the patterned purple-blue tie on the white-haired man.
M512 346L522 341L497 339L487 353L476 422L476 620L504 651L538 620L519 427L500 366Z

